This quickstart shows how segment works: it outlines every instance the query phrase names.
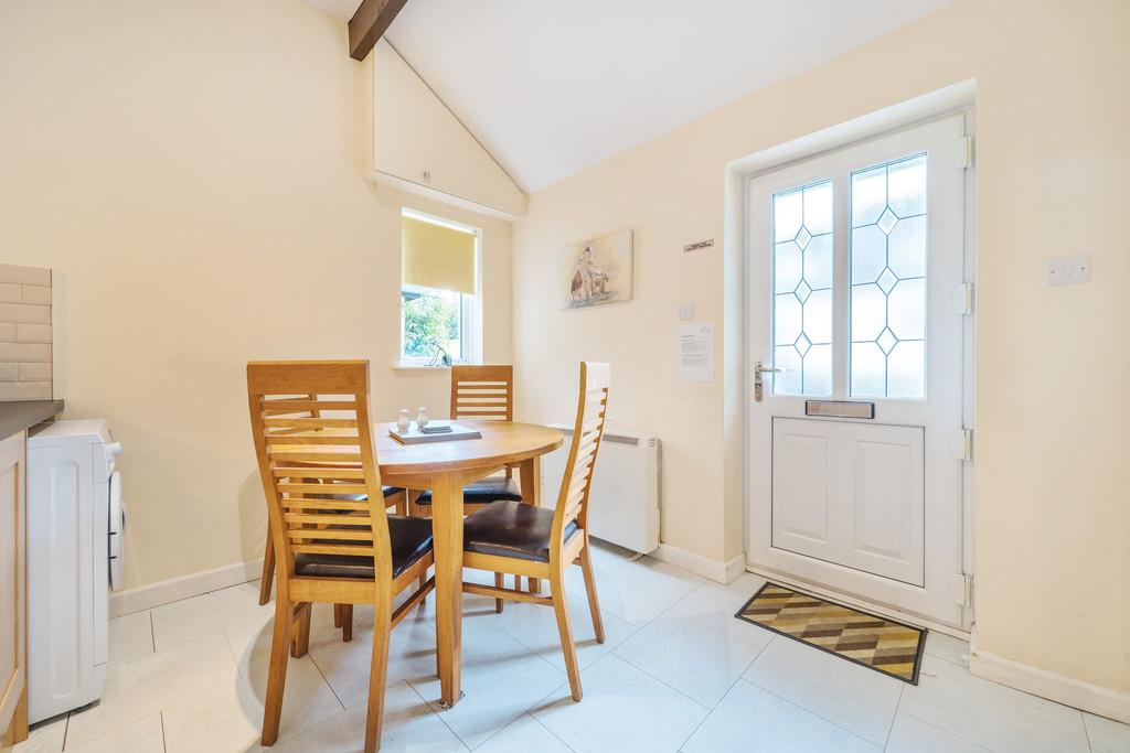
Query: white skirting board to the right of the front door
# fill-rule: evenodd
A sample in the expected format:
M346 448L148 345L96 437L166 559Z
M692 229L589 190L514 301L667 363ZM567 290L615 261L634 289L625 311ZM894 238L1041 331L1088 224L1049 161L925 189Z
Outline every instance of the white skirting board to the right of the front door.
M976 647L976 631L970 650L970 674L1032 693L1107 719L1130 724L1130 693L1093 685L1048 669L1020 664Z

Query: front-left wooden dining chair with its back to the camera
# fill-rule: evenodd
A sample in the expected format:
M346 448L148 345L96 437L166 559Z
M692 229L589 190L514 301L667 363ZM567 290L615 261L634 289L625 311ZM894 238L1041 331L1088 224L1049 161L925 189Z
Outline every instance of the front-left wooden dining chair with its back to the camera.
M385 510L368 420L368 361L247 364L247 402L278 584L261 742L278 739L287 657L308 648L311 605L334 604L337 615L372 604L365 725L372 753L381 741L390 631L435 587L426 579L393 610L393 596L434 563L431 522ZM325 493L329 485L336 494Z

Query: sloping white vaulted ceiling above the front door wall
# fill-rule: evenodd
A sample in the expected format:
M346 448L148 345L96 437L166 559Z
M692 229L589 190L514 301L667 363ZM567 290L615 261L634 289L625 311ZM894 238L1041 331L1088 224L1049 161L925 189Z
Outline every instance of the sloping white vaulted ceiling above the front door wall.
M949 1L409 0L386 38L537 191Z

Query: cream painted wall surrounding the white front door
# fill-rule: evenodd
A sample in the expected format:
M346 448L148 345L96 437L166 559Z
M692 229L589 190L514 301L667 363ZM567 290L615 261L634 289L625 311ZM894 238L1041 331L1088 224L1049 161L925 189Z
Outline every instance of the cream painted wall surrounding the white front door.
M514 231L519 414L565 419L576 361L610 361L612 426L664 443L664 541L740 554L725 166L975 78L980 648L1130 691L1128 71L1123 0L957 0L532 194ZM559 310L556 251L625 227L635 300ZM715 247L683 254L704 238ZM1048 287L1044 261L1078 253L1093 281ZM712 385L676 379L677 306L689 300L728 345Z

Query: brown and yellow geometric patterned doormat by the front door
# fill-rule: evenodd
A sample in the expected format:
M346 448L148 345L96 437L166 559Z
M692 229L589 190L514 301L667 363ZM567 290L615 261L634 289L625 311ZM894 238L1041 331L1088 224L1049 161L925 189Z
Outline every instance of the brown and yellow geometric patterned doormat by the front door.
M766 583L733 615L918 684L925 630Z

